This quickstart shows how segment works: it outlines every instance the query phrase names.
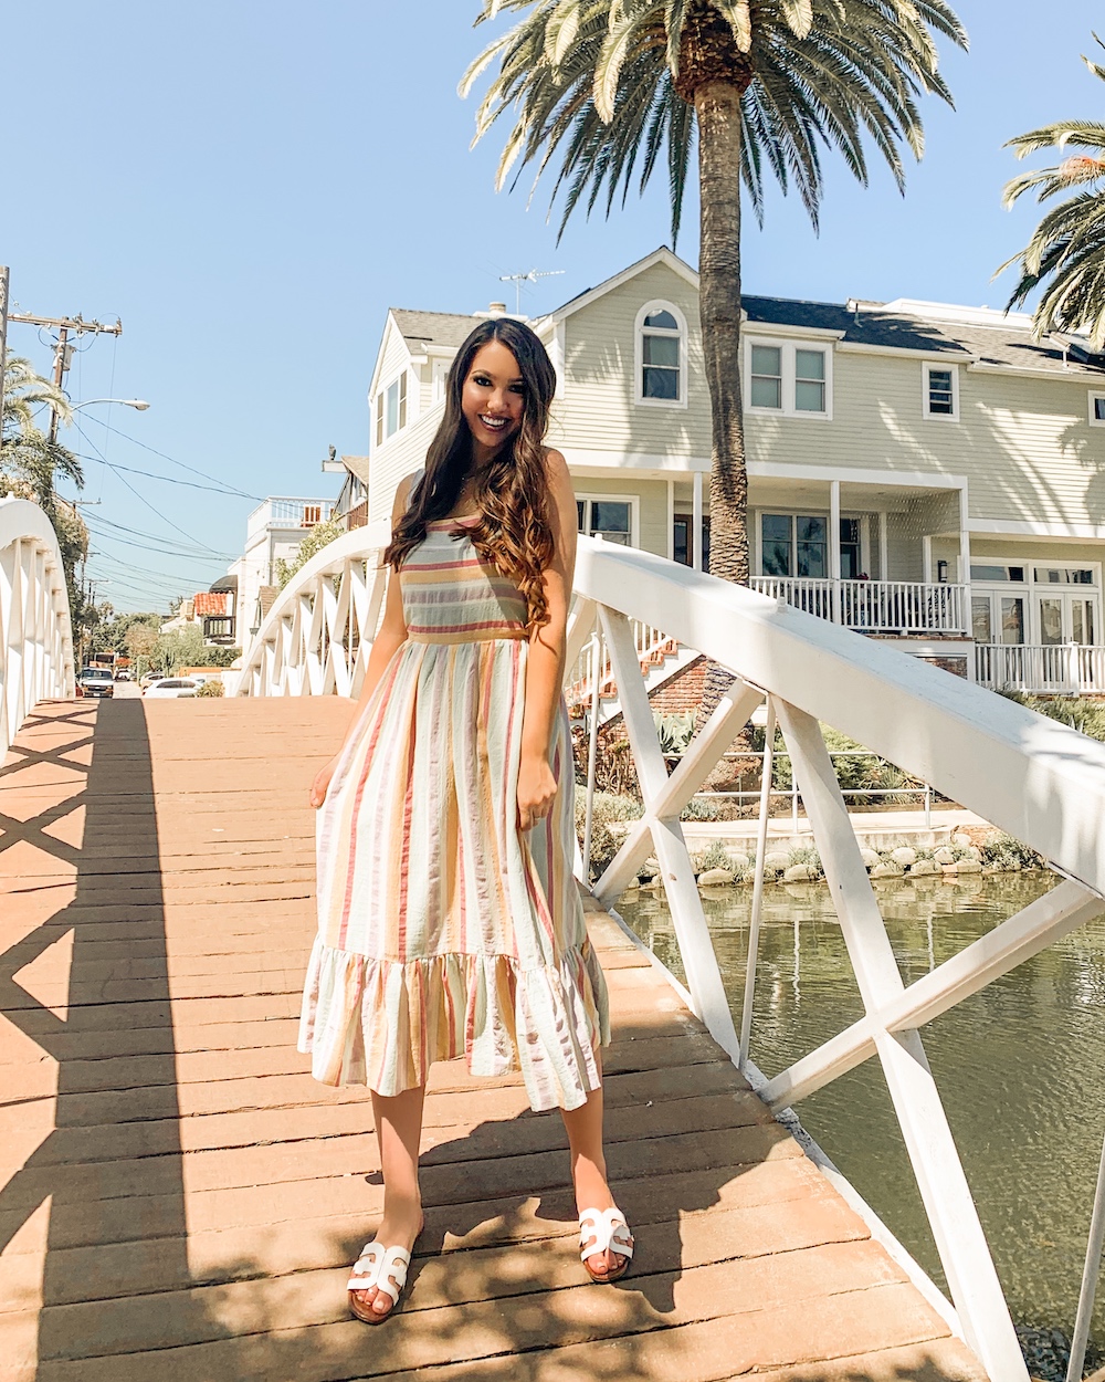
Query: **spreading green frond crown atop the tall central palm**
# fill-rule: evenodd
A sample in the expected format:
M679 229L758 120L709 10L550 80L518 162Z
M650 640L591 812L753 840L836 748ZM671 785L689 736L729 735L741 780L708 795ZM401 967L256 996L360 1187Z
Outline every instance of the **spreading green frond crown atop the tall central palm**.
M757 214L769 170L816 224L825 149L836 149L866 182L873 148L903 184L902 145L917 158L924 149L921 95L952 100L935 37L967 46L946 0L710 0L710 7L731 28L735 62L743 64L733 76L744 91L742 177ZM512 170L517 185L530 167L536 189L555 159L551 200L561 202L562 234L580 205L587 214L598 206L609 214L634 176L644 191L663 159L674 243L695 140L693 106L675 91L691 0L485 0L477 22L508 10L525 15L461 83L467 93L494 66L475 140L510 116L500 185Z

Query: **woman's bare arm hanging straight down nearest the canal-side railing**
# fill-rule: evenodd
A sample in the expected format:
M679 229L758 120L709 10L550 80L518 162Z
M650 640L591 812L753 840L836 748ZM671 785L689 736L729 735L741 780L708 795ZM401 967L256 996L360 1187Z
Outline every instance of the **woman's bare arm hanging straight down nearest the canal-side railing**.
M535 629L529 640L526 666L526 709L522 719L522 761L518 768L518 824L528 831L548 815L557 795L557 779L548 761L552 726L564 681L564 652L568 636L568 605L576 567L576 496L568 463L558 451L546 460L548 475L552 561L544 574L548 623ZM568 771L570 788L572 774Z

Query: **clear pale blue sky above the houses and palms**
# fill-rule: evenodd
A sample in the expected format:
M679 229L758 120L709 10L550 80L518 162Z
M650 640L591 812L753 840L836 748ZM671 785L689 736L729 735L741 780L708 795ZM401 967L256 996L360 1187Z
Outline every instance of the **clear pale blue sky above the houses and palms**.
M70 392L152 405L86 409L86 435L65 438L87 457L83 498L101 500L84 510L90 574L110 582L99 594L116 608L204 589L242 550L254 500L112 471L94 446L115 466L209 484L173 457L244 495L334 495L319 464L329 444L367 449L365 395L390 305L474 312L512 292L500 274L564 269L523 294L537 314L669 242L662 180L609 221L575 220L559 246L547 189L529 211L522 191L494 193L506 131L470 152L475 102L456 95L488 33L470 28L475 11L475 0L6 11L0 263L12 297L41 315L122 316L117 343L84 337ZM1055 119L1101 119L1105 87L1079 58L1099 6L1064 0L1044 18L1030 0L960 0L959 12L971 53L945 62L957 109L925 102L925 158L905 199L881 169L863 191L829 158L819 238L793 199L772 196L762 231L749 220L746 290L1004 303L1011 278L990 276L1036 211L1001 210L1018 167L1001 145ZM677 246L692 264L696 217L692 202ZM12 325L8 346L48 372L32 328ZM109 536L108 524L133 532Z

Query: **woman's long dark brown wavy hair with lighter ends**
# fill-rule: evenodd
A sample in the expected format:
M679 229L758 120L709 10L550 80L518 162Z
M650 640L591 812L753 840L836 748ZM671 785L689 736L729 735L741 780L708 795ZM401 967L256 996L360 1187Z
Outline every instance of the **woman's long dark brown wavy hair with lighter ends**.
M475 354L488 341L500 341L518 361L523 384L522 424L479 473L475 492L479 522L465 525L464 532L479 557L510 576L522 591L526 627L532 633L548 622L544 572L552 560L552 528L541 442L557 376L540 339L522 322L510 316L481 322L453 358L445 381L445 413L425 453L425 471L395 525L384 561L399 569L425 539L425 525L449 517L471 473L472 434L460 399Z

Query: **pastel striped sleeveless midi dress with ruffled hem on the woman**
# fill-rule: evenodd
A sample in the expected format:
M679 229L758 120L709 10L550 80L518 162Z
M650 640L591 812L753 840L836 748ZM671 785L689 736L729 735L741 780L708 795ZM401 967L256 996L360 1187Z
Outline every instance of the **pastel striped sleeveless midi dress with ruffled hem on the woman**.
M609 1021L568 853L568 712L552 811L521 832L525 600L456 518L427 525L399 586L407 641L318 813L300 1049L327 1085L398 1095L464 1056L475 1075L521 1067L536 1110L576 1108Z

